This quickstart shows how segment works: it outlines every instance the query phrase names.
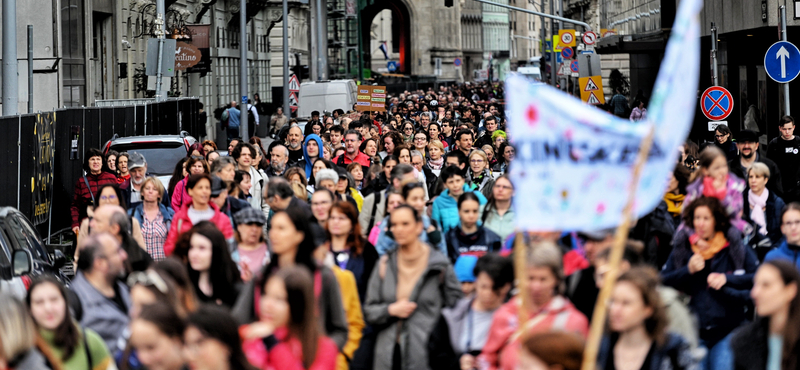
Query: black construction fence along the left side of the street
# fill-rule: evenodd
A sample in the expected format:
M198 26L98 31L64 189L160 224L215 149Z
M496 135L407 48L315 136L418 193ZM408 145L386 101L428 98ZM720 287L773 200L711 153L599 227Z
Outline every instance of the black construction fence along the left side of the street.
M17 208L43 237L69 228L73 189L83 175L86 150L102 149L114 134L204 133L198 103L196 98L178 98L0 117L0 206Z

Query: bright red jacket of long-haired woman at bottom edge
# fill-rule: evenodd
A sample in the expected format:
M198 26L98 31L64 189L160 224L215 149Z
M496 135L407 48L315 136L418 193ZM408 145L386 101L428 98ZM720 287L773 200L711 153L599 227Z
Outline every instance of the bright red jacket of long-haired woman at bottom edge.
M242 327L240 332L247 330ZM245 339L242 350L255 367L261 370L306 370L303 367L303 348L296 338L288 338L286 328L280 328L267 338ZM317 355L308 370L335 370L339 349L330 338L320 335Z

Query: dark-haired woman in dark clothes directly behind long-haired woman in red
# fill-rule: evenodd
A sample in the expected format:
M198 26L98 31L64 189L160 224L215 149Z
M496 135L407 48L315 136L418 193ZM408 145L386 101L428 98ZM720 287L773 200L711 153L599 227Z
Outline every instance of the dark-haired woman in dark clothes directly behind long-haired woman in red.
M317 266L313 256L316 245L305 213L296 208L275 212L270 225L270 262L244 288L233 307L233 316L241 323L256 320L265 281L285 268L304 266L314 275L314 292L319 302L318 319L336 345L344 347L347 342L347 320L339 285L329 268Z

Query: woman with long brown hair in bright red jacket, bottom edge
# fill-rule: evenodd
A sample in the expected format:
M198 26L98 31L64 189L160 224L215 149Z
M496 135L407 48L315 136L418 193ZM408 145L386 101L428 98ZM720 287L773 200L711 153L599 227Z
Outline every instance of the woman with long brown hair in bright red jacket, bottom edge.
M259 289L259 320L240 329L250 363L265 370L335 369L339 351L319 330L308 269L286 267Z

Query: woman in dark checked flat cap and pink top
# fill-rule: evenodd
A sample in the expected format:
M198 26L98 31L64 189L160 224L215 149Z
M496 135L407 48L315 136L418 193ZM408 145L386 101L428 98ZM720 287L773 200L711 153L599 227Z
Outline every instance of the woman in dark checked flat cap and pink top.
M269 263L269 250L264 238L267 218L261 211L248 207L233 216L236 222L235 238L239 255L239 271L242 280L250 281L261 268Z

